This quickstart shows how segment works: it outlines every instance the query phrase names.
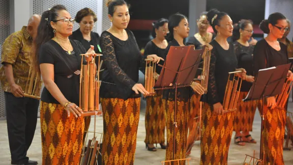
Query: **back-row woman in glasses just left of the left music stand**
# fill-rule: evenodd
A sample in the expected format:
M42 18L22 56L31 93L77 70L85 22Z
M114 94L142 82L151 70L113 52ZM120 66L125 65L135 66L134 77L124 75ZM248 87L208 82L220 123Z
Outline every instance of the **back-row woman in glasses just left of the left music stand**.
M154 39L147 43L144 49L144 56L149 54L157 54L164 58L165 49L168 42L165 36L168 33L168 20L161 18L153 24ZM164 65L163 61L160 61ZM161 73L162 67L156 66L156 77ZM162 91L156 91L154 96L147 97L147 108L145 109L145 146L149 151L157 151L154 144L160 144L162 149L166 149L165 145L165 116L162 106Z

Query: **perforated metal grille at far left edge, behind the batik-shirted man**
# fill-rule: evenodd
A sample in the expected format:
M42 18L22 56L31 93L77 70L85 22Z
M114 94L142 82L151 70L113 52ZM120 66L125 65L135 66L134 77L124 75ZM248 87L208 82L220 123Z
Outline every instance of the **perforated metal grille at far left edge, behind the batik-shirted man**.
M9 0L0 1L0 58L2 52L2 44L10 33L10 14ZM0 64L1 67L1 64ZM0 92L0 119L6 118L5 97L4 92Z

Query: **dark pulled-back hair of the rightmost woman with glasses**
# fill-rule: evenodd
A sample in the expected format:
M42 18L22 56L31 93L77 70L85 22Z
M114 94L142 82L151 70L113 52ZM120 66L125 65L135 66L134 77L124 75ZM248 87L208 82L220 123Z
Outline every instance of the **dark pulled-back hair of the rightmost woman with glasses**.
M268 19L263 19L259 24L259 29L262 30L263 33L269 34L269 23L275 25L278 23L278 20L286 19L286 17L281 13L273 13L269 16Z

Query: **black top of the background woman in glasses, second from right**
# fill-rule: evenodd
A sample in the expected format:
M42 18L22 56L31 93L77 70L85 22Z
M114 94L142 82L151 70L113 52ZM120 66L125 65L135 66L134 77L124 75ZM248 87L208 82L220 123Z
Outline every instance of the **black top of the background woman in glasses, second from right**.
M244 68L246 70L247 75L254 75L253 48L253 45L244 46L237 41L234 43L235 54L238 60L238 67ZM251 82L243 80L240 91L248 92L251 86Z

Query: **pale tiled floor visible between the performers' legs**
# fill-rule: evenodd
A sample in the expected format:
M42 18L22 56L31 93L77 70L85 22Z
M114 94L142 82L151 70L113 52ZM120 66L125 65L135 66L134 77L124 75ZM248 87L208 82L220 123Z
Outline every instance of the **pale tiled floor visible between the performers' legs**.
M142 103L142 106L143 103ZM293 112L293 103L289 104L290 111ZM94 121L94 120L92 120ZM91 128L93 130L94 122L91 123ZM97 131L102 132L103 129L103 121L102 117L97 117L96 123ZM41 148L41 135L40 135L40 119L38 119L38 125L34 137L33 144L31 148L28 150L28 156L32 160L39 161L41 164L42 160L42 148ZM237 146L231 142L229 148L229 156L228 156L228 164L242 164L245 158L245 154L253 154L253 150L255 150L256 156L259 154L259 138L260 138L260 117L258 111L255 114L255 120L253 124L253 132L251 132L254 139L257 140L257 144L247 144L246 146ZM144 144L144 136L145 136L145 128L144 128L144 109L141 109L138 134L137 134L137 146L136 146L136 154L135 154L135 163L134 164L161 164L160 161L165 158L165 150L158 149L157 152L150 152L145 149ZM190 164L199 164L200 160L200 148L199 142L195 144L192 148ZM257 156L258 157L258 156ZM284 160L285 164L293 164L293 148L292 151L284 151ZM10 164L10 151L8 145L8 135L7 135L7 125L6 121L0 121L0 164Z

